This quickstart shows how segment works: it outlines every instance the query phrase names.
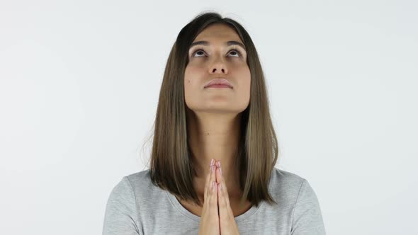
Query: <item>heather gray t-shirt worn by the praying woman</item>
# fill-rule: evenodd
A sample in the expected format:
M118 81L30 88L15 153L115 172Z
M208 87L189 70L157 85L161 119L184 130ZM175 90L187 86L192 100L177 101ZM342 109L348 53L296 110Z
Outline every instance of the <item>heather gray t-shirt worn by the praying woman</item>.
M235 217L239 234L325 234L320 203L305 178L273 168L269 193L276 205L263 201ZM111 191L103 235L198 234L199 222L145 170L124 176Z

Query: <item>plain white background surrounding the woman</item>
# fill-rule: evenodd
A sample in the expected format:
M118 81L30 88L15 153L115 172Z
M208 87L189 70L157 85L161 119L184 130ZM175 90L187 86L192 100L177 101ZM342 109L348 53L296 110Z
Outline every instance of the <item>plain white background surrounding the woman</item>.
M215 10L244 25L281 156L327 234L418 234L417 1L0 4L0 234L101 234L147 166L169 50Z

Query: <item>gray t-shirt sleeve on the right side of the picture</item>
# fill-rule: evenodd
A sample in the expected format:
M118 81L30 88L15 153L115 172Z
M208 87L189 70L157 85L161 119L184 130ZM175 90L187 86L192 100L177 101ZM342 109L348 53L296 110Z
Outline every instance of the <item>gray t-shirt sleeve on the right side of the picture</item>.
M300 185L293 209L291 235L325 235L324 221L317 195L307 180Z

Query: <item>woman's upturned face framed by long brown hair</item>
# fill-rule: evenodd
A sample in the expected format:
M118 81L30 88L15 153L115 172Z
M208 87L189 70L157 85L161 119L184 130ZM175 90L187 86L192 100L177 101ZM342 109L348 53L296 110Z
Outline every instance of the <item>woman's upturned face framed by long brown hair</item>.
M201 41L205 44L194 45ZM184 74L188 108L195 113L241 113L247 108L251 74L243 47L239 35L227 25L210 25L196 37L188 50ZM218 78L227 79L232 88L205 88Z

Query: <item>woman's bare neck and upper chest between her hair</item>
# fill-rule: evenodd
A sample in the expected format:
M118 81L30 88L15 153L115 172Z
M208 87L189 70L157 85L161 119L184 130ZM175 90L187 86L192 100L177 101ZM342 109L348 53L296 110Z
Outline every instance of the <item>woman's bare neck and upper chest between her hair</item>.
M240 115L232 113L195 113L189 110L188 141L198 173L194 183L199 197L203 198L211 159L220 161L229 195L240 192L236 161L240 120Z

